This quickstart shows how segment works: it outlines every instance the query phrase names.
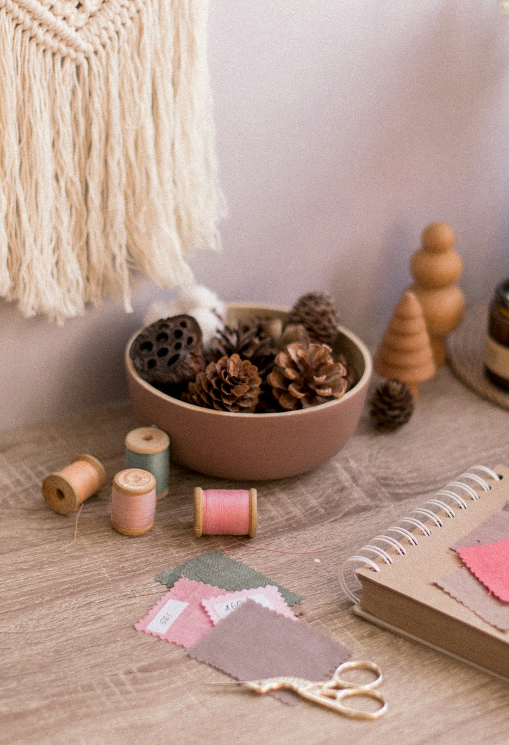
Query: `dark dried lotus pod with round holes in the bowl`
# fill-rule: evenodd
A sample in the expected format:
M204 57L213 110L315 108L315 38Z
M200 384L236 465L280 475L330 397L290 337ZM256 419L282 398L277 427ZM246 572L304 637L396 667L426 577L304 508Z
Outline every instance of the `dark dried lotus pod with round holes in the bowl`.
M151 323L132 342L129 355L138 375L156 387L187 384L205 370L202 331L185 314Z

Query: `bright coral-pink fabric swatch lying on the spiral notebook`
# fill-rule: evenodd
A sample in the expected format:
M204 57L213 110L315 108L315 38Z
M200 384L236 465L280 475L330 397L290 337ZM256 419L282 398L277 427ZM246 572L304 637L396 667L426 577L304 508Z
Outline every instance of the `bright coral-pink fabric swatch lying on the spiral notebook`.
M458 548L461 561L499 600L509 603L509 538Z

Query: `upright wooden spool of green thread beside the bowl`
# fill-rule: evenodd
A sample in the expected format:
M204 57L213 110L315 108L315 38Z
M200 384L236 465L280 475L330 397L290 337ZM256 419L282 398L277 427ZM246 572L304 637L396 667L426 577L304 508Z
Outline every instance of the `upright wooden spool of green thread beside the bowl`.
M168 493L170 438L155 425L132 429L126 436L126 468L148 471L156 479L158 499Z

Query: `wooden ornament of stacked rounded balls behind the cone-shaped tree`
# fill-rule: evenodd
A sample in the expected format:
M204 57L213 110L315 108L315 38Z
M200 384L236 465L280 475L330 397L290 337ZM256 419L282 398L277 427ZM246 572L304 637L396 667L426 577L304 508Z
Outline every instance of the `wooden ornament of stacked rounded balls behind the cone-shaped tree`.
M422 248L412 256L410 271L423 308L435 365L446 358L444 337L458 326L465 308L464 294L455 285L461 275L461 256L454 250L455 235L446 223L428 225L422 235Z

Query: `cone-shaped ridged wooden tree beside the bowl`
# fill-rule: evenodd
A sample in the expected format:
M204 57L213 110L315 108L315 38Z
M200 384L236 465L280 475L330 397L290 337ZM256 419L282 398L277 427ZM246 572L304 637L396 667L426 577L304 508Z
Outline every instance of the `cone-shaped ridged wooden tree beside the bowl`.
M417 384L435 373L423 309L413 292L407 291L392 311L374 358L374 369L382 378L406 383L414 401L419 396Z

